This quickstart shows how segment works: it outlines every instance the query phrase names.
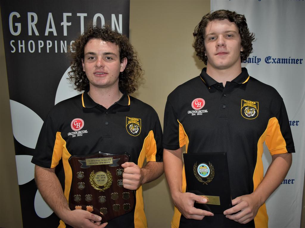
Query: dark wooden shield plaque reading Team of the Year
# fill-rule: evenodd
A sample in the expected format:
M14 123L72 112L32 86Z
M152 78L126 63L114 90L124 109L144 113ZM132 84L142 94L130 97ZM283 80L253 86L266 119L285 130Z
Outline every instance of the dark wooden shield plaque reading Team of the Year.
M127 153L103 152L71 156L70 209L83 209L102 216L102 222L130 212L135 206L135 191L123 187L121 166L129 157Z

